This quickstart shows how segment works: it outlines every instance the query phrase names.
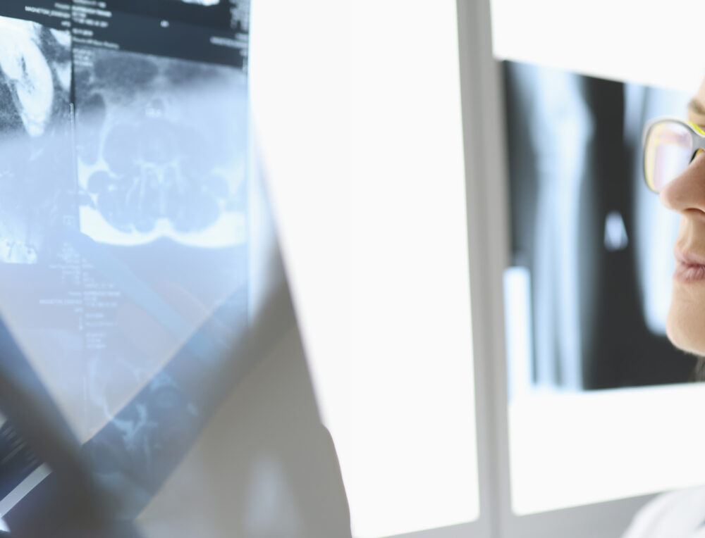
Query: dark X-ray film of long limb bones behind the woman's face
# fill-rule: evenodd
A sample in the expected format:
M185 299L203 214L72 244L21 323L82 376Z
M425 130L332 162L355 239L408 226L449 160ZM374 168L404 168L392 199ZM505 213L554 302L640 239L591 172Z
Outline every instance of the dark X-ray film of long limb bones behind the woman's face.
M666 338L678 215L646 187L641 144L646 120L682 115L689 95L503 68L510 274L525 290L513 301L532 298L528 320L512 317L522 305L508 308L508 336L528 323L533 343L529 365L510 364L524 373L511 384L580 392L684 382L694 358Z

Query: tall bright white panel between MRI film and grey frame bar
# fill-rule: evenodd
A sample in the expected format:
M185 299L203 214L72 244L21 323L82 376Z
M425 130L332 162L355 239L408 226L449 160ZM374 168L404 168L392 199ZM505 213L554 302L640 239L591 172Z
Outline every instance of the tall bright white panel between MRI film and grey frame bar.
M454 0L253 6L259 151L355 537L479 515L458 71Z

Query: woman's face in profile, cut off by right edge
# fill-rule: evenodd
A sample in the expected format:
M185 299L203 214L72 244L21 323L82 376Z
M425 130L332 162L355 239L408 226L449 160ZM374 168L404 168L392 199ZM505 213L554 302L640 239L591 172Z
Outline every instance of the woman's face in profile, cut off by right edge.
M688 118L705 126L705 81L688 107ZM668 183L660 197L664 206L680 214L666 333L680 349L705 355L705 152Z

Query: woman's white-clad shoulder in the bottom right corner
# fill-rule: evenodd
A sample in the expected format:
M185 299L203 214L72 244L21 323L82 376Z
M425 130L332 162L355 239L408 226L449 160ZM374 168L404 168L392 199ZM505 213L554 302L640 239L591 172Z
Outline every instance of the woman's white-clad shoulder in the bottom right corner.
M637 512L622 538L685 538L704 532L705 486L657 496ZM698 534L695 534L698 532Z

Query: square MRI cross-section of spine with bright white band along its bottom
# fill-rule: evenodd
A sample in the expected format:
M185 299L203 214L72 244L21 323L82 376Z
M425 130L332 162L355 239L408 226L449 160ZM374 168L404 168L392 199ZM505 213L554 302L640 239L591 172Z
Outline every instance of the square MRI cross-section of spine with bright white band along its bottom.
M116 245L243 244L246 75L125 51L75 54L81 232Z

